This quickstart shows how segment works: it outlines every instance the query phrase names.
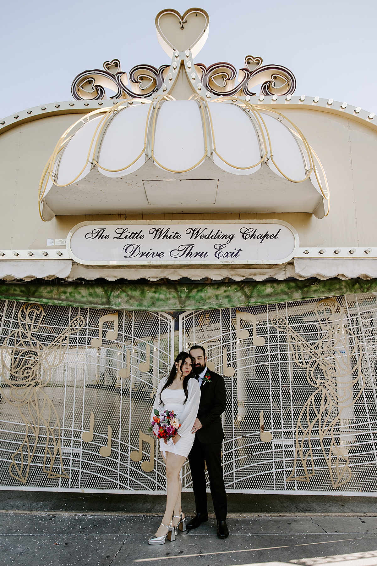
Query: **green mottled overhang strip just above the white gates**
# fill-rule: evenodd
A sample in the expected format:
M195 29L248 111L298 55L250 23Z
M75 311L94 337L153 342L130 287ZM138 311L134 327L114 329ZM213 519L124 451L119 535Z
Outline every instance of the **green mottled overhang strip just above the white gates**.
M377 292L377 279L247 281L227 283L0 284L0 298L44 305L181 311Z

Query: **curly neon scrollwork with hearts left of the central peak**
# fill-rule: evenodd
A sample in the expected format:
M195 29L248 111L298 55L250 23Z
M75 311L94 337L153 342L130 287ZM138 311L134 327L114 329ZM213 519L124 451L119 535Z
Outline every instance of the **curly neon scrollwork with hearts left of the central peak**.
M77 75L73 79L71 93L76 100L102 100L105 88L109 88L115 91L110 96L113 100L148 98L162 87L166 67L168 65L161 65L158 69L152 65L137 65L129 71L129 84L127 73L122 71L119 59L105 61L103 70L93 69Z

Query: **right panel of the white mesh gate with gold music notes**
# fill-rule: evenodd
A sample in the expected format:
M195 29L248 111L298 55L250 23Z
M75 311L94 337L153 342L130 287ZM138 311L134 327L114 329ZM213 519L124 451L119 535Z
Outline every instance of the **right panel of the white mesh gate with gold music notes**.
M376 494L375 294L185 312L193 344L226 381L228 492Z

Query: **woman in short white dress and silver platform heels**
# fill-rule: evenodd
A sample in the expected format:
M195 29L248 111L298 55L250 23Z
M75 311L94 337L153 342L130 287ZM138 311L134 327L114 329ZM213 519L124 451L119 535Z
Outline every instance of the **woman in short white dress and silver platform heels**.
M178 530L186 530L186 517L181 508L180 471L194 442L195 435L192 434L191 429L200 402L200 387L194 378L192 368L193 358L190 354L181 352L177 355L170 374L158 385L151 413L152 420L155 409L174 411L181 426L179 434L172 439L174 447L168 445L166 440L159 439L166 465L166 509L157 533L148 540L149 544L164 544L166 539L175 541Z

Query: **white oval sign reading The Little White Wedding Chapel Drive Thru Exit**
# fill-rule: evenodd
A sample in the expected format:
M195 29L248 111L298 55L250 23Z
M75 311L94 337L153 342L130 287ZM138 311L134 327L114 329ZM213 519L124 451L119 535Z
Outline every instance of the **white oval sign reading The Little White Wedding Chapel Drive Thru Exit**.
M299 246L280 220L82 222L67 238L77 263L90 265L281 264Z

